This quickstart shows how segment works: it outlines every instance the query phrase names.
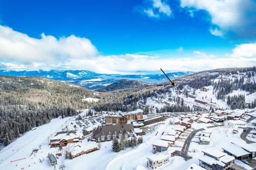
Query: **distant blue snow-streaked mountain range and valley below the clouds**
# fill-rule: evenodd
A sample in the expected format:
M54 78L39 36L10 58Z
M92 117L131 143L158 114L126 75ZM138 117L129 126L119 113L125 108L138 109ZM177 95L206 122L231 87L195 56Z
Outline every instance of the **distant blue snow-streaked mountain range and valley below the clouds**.
M192 74L191 71L177 71L167 73L170 79L177 79ZM160 83L167 81L163 74L148 75L115 75L98 74L88 70L0 70L0 76L41 77L75 85L91 90L100 89L121 79L138 80L147 83Z

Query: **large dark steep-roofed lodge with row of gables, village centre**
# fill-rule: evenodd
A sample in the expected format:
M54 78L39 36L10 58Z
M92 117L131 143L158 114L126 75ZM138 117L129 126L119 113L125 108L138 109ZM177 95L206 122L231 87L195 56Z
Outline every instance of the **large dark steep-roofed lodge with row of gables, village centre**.
M114 138L120 139L122 136L124 139L134 136L133 124L98 126L98 128L93 131L91 140L104 142Z

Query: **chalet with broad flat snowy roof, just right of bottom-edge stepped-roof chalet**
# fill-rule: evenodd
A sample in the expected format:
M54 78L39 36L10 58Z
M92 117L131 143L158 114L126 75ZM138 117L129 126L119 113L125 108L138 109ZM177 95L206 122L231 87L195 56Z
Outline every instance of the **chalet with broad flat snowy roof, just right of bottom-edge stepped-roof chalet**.
M236 159L248 159L250 153L245 151L243 148L241 148L239 145L234 143L229 143L222 147L223 152L227 153L230 156L233 156Z

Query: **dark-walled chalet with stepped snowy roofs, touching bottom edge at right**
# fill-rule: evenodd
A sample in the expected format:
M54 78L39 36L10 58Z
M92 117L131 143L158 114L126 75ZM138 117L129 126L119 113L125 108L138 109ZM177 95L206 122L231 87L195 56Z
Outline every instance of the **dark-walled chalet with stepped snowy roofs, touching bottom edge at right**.
M202 151L204 155L199 158L199 165L208 170L222 170L233 162L234 157L218 150L208 149Z

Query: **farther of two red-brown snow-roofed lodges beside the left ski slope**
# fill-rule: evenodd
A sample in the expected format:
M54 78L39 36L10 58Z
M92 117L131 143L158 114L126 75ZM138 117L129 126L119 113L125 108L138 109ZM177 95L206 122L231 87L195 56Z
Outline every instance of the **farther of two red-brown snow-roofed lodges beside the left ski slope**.
M57 134L50 139L51 147L66 146L68 143L78 142L83 139L83 135L80 132L57 132Z

